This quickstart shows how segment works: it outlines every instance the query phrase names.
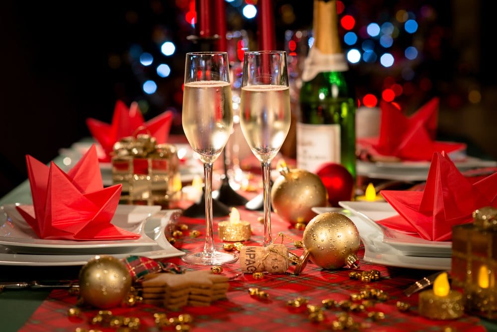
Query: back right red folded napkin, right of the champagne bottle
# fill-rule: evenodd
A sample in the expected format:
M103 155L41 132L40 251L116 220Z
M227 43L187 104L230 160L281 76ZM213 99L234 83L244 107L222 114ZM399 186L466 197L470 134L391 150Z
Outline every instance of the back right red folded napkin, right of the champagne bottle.
M358 138L372 156L400 160L430 160L433 152L464 150L466 144L436 141L439 99L431 99L411 116L393 104L382 101L379 137Z

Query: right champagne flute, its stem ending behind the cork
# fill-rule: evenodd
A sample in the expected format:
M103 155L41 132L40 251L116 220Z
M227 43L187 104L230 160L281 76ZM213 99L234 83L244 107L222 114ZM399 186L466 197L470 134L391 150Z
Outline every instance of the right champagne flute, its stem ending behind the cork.
M286 52L245 52L240 125L248 146L260 161L264 201L264 241L272 242L270 171L290 129L290 88Z

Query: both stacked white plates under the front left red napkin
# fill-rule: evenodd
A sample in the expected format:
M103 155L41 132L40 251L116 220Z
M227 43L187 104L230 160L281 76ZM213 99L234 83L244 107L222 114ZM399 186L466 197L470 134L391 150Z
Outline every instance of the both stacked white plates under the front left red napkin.
M95 255L126 258L129 255L152 259L182 256L166 239L166 229L181 210L161 210L160 206L118 205L112 224L140 234L135 240L50 240L40 239L15 209L0 207L0 265L65 266L84 265Z

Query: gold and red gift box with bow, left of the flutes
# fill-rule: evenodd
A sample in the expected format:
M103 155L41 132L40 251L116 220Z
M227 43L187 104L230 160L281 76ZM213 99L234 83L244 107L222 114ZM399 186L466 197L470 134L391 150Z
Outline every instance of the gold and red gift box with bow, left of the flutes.
M112 183L122 184L120 203L175 207L181 196L177 149L155 142L148 134L138 134L114 144Z

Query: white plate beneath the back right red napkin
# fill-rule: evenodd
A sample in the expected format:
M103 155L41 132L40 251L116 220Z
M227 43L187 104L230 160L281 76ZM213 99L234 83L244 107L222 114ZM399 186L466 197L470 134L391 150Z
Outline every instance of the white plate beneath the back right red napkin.
M497 166L496 161L475 157L465 157L453 161L459 171ZM369 162L357 160L356 167L357 175L372 179L426 181L430 164L430 161Z

